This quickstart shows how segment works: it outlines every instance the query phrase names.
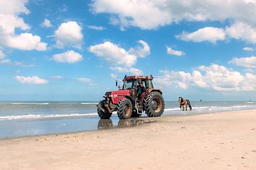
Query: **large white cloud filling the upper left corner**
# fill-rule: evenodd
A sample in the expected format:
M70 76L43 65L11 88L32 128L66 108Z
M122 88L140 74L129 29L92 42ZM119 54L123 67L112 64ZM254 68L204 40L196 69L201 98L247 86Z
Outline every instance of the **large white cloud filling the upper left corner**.
M29 30L30 26L19 15L28 14L26 0L0 1L0 47L19 50L46 50L47 44L38 35L16 34L16 30Z

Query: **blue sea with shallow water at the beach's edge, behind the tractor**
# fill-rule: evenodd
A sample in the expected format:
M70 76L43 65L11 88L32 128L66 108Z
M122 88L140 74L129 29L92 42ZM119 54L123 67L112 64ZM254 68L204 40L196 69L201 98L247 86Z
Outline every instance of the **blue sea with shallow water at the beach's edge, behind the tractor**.
M97 102L85 101L1 101L0 138L61 134L125 128L154 122L154 119L119 120L113 113L110 120L100 120ZM192 111L181 111L178 102L165 102L165 115L189 115L256 109L255 101L191 101ZM146 117L143 113L142 117Z

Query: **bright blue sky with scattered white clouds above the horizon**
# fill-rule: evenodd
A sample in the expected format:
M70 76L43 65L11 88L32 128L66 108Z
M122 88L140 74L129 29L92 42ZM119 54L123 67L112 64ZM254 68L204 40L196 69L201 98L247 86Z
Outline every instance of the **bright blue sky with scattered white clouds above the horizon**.
M256 101L252 16L256 0L0 0L0 101L100 101L126 74L166 101Z

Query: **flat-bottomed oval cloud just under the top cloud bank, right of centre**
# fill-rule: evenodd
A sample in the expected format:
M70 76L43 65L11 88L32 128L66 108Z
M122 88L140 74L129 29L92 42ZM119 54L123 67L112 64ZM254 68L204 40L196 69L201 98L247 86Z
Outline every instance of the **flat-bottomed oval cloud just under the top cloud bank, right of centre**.
M199 30L196 30L193 33L183 32L180 35L176 35L176 38L185 40L185 41L193 41L193 42L213 42L215 43L218 40L225 40L225 30L221 28L214 27L205 27Z

